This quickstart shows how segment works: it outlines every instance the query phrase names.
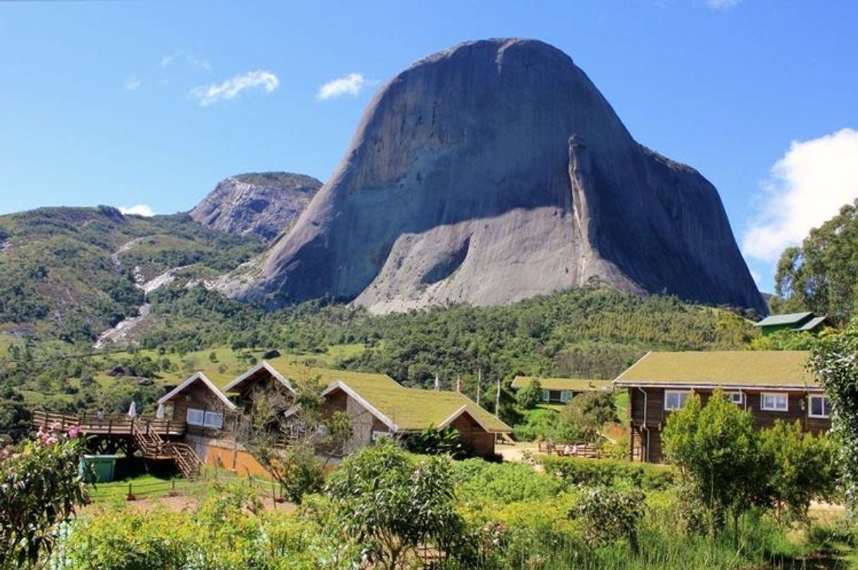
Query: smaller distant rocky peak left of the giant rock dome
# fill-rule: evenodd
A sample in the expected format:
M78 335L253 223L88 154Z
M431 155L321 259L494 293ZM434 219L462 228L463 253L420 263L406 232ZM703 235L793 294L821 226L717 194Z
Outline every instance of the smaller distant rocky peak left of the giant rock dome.
M190 217L214 230L253 233L269 242L293 225L321 187L303 174L239 174L219 183Z

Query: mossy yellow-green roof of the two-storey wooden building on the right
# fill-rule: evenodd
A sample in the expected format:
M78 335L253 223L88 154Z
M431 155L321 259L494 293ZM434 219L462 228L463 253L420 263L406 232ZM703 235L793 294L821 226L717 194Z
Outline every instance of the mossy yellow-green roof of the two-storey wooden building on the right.
M619 385L819 387L807 351L650 352L619 375Z

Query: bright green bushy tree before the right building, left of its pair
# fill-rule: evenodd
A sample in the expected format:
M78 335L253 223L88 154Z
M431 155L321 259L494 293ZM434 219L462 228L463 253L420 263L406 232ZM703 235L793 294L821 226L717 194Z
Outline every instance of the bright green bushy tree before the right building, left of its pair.
M674 411L662 434L668 461L679 467L687 493L710 513L713 531L722 530L732 515L737 531L740 515L769 501L769 465L760 461L759 432L751 413L728 401L721 390L706 405L697 394ZM734 534L738 537L738 534Z

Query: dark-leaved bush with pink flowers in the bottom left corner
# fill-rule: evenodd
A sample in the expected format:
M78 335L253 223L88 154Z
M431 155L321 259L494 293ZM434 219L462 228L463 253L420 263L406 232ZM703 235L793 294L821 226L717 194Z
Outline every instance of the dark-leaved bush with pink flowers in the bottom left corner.
M79 429L39 429L32 441L0 452L0 570L34 567L49 554L57 523L87 499L79 470Z

